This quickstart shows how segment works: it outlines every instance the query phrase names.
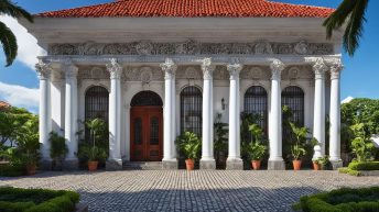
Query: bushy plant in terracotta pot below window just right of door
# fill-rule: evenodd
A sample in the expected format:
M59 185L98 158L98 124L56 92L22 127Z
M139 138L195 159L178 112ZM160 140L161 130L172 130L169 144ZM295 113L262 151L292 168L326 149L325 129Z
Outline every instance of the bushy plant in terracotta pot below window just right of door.
M201 140L195 133L184 132L184 134L178 137L178 147L186 158L186 169L193 170L195 168L195 159L199 156L202 147Z

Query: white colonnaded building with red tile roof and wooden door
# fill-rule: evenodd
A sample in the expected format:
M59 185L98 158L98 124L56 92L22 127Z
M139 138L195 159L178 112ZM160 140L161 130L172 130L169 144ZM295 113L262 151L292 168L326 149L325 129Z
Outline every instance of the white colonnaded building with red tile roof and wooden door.
M149 2L149 3L148 3ZM78 121L109 121L108 169L122 160L162 160L176 168L175 137L202 135L201 168L214 169L216 113L229 124L228 169L241 169L240 112L268 126L269 169L284 169L281 107L290 105L340 166L342 33L326 40L334 10L268 0L119 0L46 12L23 25L41 56L40 140L64 134L66 163L77 166ZM329 113L329 153L325 115Z

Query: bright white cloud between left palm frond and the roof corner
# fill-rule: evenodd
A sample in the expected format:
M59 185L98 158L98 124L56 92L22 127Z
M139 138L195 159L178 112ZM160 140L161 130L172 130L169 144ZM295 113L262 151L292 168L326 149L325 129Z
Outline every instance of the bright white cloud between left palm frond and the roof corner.
M0 21L12 30L18 40L19 54L17 60L20 60L29 68L34 70L34 65L37 63L36 57L45 55L44 49L37 45L36 38L28 33L26 29L19 24L15 19L7 15L0 15Z

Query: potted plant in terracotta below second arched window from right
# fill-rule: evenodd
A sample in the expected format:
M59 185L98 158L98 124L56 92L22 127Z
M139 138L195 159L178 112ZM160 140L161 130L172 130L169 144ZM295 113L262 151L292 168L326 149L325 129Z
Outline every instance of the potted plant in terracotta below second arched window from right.
M245 145L245 150L248 158L251 160L251 166L255 170L260 169L261 160L266 154L267 146L262 140L262 129L258 124L250 124L249 131L251 133L251 142Z

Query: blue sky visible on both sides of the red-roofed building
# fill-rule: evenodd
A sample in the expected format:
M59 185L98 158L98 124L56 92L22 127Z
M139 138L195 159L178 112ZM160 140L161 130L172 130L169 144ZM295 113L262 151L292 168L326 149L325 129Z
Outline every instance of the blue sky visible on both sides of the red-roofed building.
M14 0L32 13L61 10L80 5L110 2L111 0ZM336 8L342 0L277 0L282 2L322 5ZM344 54L345 69L342 77L342 99L354 98L375 98L379 99L379 1L371 0L367 11L367 23L365 25L364 37L359 49L351 58ZM24 44L25 43L25 44ZM20 42L28 54L28 41ZM37 111L37 87L39 80L33 70L33 65L21 55L13 66L4 67L4 56L0 53L0 100ZM26 60L26 62L25 62Z

